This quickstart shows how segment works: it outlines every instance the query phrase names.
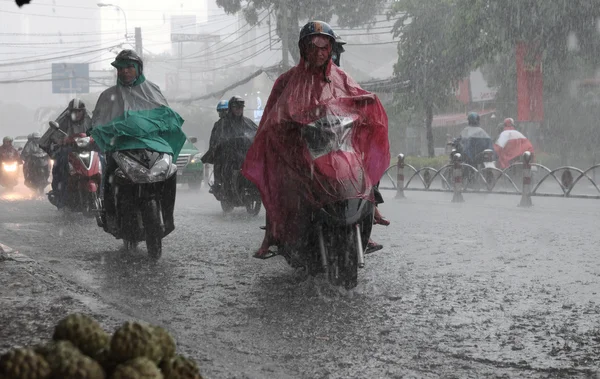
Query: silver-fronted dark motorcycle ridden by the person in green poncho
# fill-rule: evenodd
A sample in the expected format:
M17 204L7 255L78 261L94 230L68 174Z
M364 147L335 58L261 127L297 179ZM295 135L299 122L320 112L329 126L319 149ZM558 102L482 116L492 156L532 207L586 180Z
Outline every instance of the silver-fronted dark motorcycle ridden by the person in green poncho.
M160 258L162 239L175 229L177 165L173 157L135 149L116 151L107 158L109 180L99 226L122 239L126 250L145 241L148 255Z

